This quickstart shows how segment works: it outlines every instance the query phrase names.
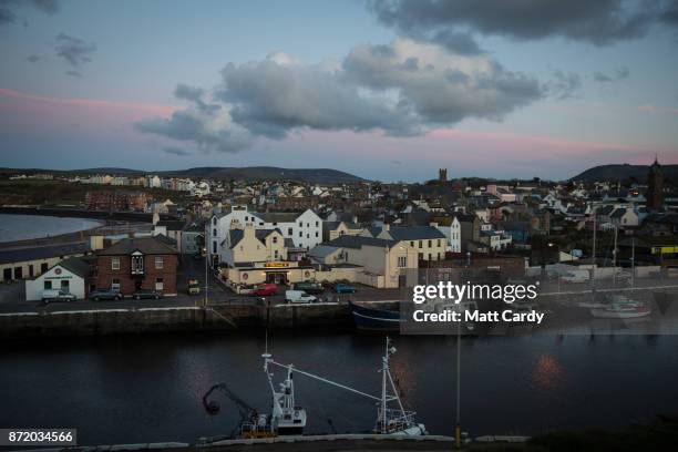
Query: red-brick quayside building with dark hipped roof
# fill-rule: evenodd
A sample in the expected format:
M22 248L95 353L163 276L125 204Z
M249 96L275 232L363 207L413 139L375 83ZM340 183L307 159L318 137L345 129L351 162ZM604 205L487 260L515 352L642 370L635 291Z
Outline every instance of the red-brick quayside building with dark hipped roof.
M176 295L177 254L158 237L120 240L96 254L96 287L122 295L138 289Z

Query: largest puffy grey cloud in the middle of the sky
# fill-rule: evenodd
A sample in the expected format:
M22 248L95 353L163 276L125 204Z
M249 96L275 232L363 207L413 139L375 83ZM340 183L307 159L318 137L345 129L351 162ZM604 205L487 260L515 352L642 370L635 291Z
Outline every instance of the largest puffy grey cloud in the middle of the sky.
M188 109L137 123L136 130L237 152L257 137L280 140L296 130L408 136L470 117L500 121L544 95L536 79L486 55L445 49L398 39L356 47L339 65L302 64L284 53L229 63L209 104L205 90L179 84L174 94Z

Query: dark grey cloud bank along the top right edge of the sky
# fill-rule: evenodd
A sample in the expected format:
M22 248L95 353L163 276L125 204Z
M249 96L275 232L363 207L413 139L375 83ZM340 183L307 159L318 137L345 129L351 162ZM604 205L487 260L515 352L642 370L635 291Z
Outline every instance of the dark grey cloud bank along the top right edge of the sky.
M562 37L596 45L645 35L658 20L678 17L672 1L623 0L368 0L378 20L404 35L440 42L443 32L476 32L516 40Z

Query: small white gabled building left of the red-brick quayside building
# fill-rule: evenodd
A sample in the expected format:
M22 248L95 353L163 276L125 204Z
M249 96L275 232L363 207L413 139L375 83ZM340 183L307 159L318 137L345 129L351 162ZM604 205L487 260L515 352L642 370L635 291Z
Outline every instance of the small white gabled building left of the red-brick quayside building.
M39 301L44 290L63 290L75 299L84 299L90 271L90 265L78 257L62 260L37 278L25 280L25 299Z

